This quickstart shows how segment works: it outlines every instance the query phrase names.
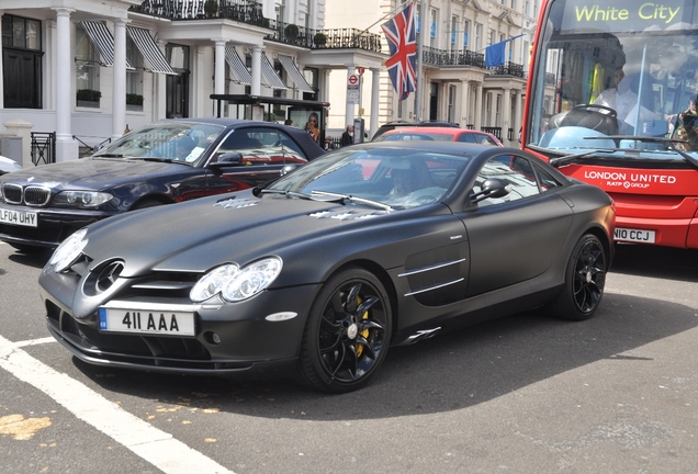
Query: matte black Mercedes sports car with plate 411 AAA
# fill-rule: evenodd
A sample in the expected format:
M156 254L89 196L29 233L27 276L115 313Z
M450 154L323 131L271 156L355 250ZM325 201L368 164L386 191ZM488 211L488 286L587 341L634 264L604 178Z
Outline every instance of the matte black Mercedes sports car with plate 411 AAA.
M362 386L394 345L544 307L597 309L612 201L514 148L387 142L267 187L83 228L41 276L50 334L93 364Z

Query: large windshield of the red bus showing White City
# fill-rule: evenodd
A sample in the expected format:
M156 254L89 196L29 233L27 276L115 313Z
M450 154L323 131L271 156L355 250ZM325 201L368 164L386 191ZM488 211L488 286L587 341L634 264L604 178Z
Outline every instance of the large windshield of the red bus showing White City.
M552 0L540 25L526 145L637 159L698 153L698 8Z

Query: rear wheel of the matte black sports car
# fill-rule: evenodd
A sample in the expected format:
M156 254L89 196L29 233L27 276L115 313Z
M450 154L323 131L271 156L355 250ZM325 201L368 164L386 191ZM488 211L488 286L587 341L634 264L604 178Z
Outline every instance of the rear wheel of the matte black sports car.
M594 316L604 296L608 258L601 241L587 234L574 246L565 269L565 283L548 305L550 316L585 320Z

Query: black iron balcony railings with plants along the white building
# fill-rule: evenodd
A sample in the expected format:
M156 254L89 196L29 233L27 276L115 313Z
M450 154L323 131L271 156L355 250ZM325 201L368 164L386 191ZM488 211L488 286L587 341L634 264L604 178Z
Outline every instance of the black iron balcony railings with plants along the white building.
M145 0L128 11L172 21L226 19L271 30L267 40L309 49L353 48L381 53L381 36L357 29L312 30L278 22L262 15L262 5L251 0L219 0L206 11L204 0Z

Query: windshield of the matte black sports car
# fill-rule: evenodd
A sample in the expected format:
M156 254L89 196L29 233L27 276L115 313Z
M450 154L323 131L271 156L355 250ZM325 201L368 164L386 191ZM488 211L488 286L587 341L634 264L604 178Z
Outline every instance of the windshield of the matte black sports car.
M417 207L447 195L470 158L409 148L348 147L311 161L264 192L326 200L364 200ZM274 194L274 195L280 195ZM359 198L352 201L350 198Z

